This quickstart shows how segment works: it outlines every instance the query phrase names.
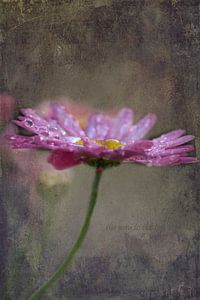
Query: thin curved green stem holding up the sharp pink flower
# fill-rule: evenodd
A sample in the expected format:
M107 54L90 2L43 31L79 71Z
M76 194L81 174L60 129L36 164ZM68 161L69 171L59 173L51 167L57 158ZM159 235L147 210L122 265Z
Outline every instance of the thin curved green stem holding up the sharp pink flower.
M64 272L67 270L67 268L72 263L72 260L75 257L77 251L80 249L80 247L85 239L85 236L87 234L88 228L90 226L92 213L94 211L94 207L96 204L98 187L99 187L101 175L102 175L102 170L96 169L96 174L95 174L95 178L94 178L93 186L92 186L92 192L90 195L90 202L88 205L85 220L84 220L83 226L81 228L81 231L79 233L78 239L74 243L72 249L67 254L66 258L64 259L64 261L60 265L60 267L51 275L51 277L38 290L36 290L32 294L32 296L29 298L29 300L40 299L40 297L46 292L46 290L48 288L50 288L64 274Z

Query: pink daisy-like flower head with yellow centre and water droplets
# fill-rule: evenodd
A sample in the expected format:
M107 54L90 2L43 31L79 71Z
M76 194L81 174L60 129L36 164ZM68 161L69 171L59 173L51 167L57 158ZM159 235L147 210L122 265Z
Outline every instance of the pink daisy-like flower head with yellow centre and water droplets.
M148 114L133 125L133 112L121 109L115 117L93 113L85 128L63 105L53 104L48 116L39 116L32 109L22 109L15 123L32 136L9 137L14 148L51 150L48 162L62 170L80 163L108 167L120 163L140 163L148 166L168 166L196 163L188 156L194 150L184 145L194 139L178 129L158 138L144 139L154 126L156 116Z

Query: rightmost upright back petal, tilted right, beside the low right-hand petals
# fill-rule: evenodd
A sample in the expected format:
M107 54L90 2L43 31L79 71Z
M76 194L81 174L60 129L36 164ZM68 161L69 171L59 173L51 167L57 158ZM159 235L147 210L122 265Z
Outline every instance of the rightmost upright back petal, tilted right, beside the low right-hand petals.
M131 129L126 141L134 141L142 139L154 126L157 117L154 114L148 114L143 119L139 120Z

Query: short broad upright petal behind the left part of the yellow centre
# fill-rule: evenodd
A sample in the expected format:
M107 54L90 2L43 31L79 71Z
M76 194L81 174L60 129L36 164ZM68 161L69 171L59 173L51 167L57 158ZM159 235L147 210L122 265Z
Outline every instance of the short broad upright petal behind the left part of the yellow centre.
M86 134L91 139L103 140L109 134L111 123L110 118L95 113L89 118Z

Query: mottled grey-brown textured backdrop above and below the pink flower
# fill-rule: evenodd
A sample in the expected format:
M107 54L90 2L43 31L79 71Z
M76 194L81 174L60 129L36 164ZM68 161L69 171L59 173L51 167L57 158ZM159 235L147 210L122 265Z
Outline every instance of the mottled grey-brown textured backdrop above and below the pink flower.
M198 150L199 1L2 0L0 12L0 88L15 114L62 95L129 106L158 115L151 136L185 128ZM8 150L1 171L1 299L23 300L70 249L94 171ZM198 166L107 171L87 241L47 299L199 299L198 196Z

